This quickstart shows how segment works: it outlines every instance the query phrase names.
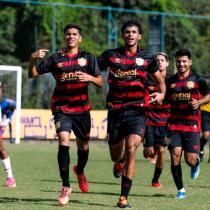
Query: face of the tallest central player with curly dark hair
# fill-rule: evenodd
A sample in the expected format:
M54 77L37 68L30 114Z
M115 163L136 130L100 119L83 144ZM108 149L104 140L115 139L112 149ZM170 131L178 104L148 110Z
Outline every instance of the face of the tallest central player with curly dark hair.
M122 38L126 46L133 47L138 44L138 41L142 38L142 35L139 33L138 27L128 26L123 32Z

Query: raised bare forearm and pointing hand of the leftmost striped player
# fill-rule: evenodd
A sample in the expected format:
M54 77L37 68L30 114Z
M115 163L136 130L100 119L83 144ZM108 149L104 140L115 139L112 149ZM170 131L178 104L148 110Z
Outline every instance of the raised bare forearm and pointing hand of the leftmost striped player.
M33 77L39 75L37 68L36 68L36 60L44 58L47 52L49 52L49 50L40 49L40 50L37 50L36 52L31 54L31 58L30 58L29 64L28 64L28 77L29 78L33 78Z

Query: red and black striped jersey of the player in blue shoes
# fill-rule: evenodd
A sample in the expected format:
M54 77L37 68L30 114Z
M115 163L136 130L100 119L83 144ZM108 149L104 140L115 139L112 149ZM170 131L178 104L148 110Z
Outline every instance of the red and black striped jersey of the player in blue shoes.
M193 109L189 102L192 98L199 100L209 93L206 81L191 71L184 79L180 79L178 74L169 77L166 87L166 97L171 104L168 129L200 132L200 110Z

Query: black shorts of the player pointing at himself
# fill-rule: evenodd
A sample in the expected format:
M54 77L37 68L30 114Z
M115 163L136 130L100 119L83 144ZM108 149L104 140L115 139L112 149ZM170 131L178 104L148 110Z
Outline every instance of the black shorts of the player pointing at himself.
M89 141L91 119L90 113L66 114L62 112L54 113L56 133L73 130L75 136L82 141Z

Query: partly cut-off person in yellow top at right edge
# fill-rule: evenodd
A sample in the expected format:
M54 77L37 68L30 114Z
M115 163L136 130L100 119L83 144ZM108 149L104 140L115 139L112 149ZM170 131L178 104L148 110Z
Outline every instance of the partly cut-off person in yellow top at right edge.
M203 104L201 107L201 130L202 135L200 139L200 161L202 162L204 159L204 146L206 142L208 142L208 138L210 136L210 102L207 104ZM210 149L210 145L209 145ZM209 150L210 151L210 150ZM209 160L210 163L210 153L209 153Z

